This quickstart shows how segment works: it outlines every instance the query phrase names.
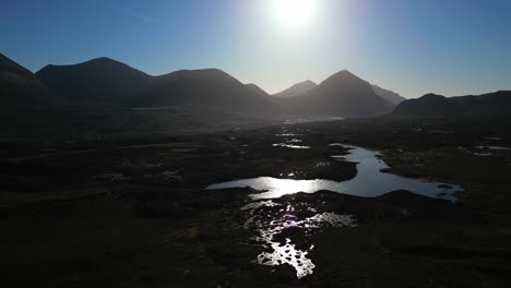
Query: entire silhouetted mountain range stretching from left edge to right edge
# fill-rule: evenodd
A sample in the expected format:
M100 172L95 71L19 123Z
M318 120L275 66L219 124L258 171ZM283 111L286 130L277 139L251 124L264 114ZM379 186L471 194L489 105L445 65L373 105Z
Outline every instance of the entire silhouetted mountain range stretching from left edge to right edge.
M211 107L249 113L372 117L504 115L511 92L444 97L428 94L406 100L347 70L320 84L297 83L275 95L242 84L217 69L181 70L152 76L122 62L98 58L72 65L47 65L37 73L0 55L0 93L5 107L115 106ZM394 109L395 108L395 109Z

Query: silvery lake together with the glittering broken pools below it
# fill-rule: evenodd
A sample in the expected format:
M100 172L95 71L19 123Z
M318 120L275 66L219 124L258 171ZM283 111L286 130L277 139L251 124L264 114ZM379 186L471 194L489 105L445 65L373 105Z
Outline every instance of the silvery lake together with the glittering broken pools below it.
M309 235L320 231L321 227L348 228L357 226L356 217L348 214L322 213L316 214L312 217L300 218L295 214L294 206L275 203L272 199L297 192L314 193L320 190L365 197L375 197L396 190L407 190L430 197L455 201L454 192L462 190L457 185L427 182L383 173L380 170L389 168L389 166L378 158L379 154L375 151L340 143L333 143L330 146L349 148L349 155L331 155L331 157L336 160L356 163L358 173L354 179L336 182L322 179L290 180L260 177L212 184L206 188L207 190L217 190L250 187L260 191L260 193L251 195L251 203L241 207L248 214L245 228L253 229L258 232L258 236L252 240L257 241L264 249L253 261L254 263L268 266L290 265L295 268L297 278L306 277L307 275L311 275L316 268L314 263L308 256L308 253L314 247L311 245L308 249L300 250L293 239L285 238L285 242L282 243L276 238L289 228L299 228L306 235ZM308 211L317 212L314 207L308 207ZM408 212L403 211L402 213Z

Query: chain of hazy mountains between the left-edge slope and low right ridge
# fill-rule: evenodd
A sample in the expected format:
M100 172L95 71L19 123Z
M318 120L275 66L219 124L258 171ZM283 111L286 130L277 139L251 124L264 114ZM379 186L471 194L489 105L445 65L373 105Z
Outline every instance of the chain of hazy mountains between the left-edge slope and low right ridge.
M98 58L73 65L47 65L35 74L72 105L128 107L206 106L295 115L366 117L390 112L394 103L348 71L320 85L311 81L269 95L217 69L181 70L151 76L124 63Z

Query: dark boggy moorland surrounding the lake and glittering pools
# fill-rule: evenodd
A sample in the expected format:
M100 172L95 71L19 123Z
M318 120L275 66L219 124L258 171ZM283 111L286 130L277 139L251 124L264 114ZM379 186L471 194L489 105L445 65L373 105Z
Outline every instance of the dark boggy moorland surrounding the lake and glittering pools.
M509 125L345 120L257 130L103 141L4 140L1 145L2 287L510 287ZM489 140L499 137L501 140ZM298 140L298 141L292 141ZM310 146L294 149L285 143ZM301 141L301 142L299 142ZM253 263L250 189L211 183L271 176L347 180L347 143L383 153L391 171L461 184L452 204L406 191L376 199L328 191L286 195L301 220L353 215L357 227L284 229L312 275ZM312 208L312 209L310 209ZM275 207L255 209L283 217ZM264 216L268 215L268 216ZM273 215L273 216L272 216ZM289 217L286 216L286 217Z

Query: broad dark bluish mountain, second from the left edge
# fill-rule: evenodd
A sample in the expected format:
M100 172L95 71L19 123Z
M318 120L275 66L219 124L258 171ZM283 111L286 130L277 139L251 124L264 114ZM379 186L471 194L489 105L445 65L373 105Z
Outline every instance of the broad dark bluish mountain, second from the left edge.
M108 58L47 65L36 76L76 105L126 105L151 83L150 75Z

